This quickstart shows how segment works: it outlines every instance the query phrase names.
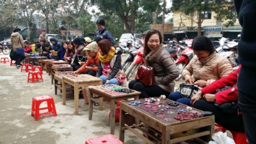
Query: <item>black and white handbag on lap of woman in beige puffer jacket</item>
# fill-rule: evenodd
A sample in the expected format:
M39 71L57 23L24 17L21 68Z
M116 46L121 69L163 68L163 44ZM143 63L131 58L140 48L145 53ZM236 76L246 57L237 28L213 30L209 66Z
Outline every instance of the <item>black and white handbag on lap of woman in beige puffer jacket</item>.
M184 98L191 98L195 95L200 88L194 84L181 83L180 87L175 92L180 92L180 96Z

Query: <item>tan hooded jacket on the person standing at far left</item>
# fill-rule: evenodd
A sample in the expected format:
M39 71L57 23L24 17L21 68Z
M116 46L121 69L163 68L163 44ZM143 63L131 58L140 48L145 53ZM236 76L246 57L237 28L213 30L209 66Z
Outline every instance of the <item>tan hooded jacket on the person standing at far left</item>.
M19 48L24 47L23 38L22 38L22 35L20 35L19 32L12 33L11 43L12 43L13 51L17 51L17 47L19 47Z

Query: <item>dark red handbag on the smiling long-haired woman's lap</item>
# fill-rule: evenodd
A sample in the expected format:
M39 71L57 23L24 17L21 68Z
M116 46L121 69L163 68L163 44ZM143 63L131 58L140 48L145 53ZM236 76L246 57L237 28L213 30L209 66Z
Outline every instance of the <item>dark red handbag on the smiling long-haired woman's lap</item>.
M143 83L145 86L154 86L156 84L153 68L146 65L140 65L135 79Z

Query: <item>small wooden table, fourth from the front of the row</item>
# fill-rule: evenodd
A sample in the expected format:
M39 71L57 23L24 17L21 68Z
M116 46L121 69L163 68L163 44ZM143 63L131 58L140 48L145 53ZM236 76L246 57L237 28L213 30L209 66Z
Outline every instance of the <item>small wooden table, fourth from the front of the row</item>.
M62 92L62 77L72 75L73 71L55 72L54 74L54 92L57 95L57 89L60 88ZM59 83L60 82L60 83ZM66 88L67 90L67 88Z

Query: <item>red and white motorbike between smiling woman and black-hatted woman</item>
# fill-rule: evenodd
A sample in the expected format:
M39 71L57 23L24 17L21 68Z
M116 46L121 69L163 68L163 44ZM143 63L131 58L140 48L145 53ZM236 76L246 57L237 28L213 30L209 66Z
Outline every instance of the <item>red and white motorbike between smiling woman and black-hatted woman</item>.
M189 61L192 60L192 58L194 56L194 52L191 47L192 42L193 42L193 39L186 40L186 45L188 45L188 47L186 47L186 49L184 49L184 51L181 52L180 58L178 58L175 61L176 67L178 68L179 73L180 73L179 76L175 79L175 81L179 81L179 79L181 78L182 71L184 70L186 65L188 65Z

